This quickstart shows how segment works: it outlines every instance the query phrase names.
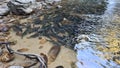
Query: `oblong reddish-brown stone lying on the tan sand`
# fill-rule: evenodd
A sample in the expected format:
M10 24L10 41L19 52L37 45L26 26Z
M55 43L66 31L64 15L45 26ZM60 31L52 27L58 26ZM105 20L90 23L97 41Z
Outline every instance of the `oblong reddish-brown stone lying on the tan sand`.
M60 46L53 46L48 52L48 64L54 62L60 52Z

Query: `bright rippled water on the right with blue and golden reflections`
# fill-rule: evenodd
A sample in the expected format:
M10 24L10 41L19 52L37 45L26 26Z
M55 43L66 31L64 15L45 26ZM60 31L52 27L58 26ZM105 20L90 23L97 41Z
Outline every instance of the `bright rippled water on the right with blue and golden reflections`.
M120 0L108 0L101 18L97 32L78 36L78 68L120 68Z

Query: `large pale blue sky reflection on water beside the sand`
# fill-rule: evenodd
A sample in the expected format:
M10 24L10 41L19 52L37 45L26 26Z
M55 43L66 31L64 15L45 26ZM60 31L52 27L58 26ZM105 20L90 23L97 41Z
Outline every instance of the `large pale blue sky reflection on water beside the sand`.
M77 60L76 63L78 68L119 68L113 61L108 61L105 58L100 57L99 55L104 55L103 52L100 52L96 49L96 42L100 43L99 35L80 35L81 37L90 38L89 41L84 39L80 40L80 43L76 44L74 49L77 51ZM92 40L91 38L94 38Z

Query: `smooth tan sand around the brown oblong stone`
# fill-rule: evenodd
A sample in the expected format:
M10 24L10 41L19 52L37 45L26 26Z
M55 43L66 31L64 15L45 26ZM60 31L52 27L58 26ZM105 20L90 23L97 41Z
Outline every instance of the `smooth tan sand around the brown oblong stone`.
M33 39L27 39L27 37L24 37L21 39L21 37L16 36L14 32L11 32L10 34L12 40L16 40L17 44L12 45L11 48L15 51L22 48L27 48L28 51L25 51L23 53L33 53L33 54L40 54L44 53L47 55L50 48L54 46L50 42L45 42L43 44L40 44L40 40L38 38ZM10 61L8 63L3 63L0 65L0 68L6 68L6 65L19 65L19 63L24 62L25 57L20 55L15 55L15 59L13 61ZM64 46L61 46L61 51L58 54L56 60L50 64L48 64L48 68L55 68L56 66L63 66L64 68L73 68L71 65L76 62L76 54L73 50L70 50ZM33 66L31 68L39 68L37 66Z

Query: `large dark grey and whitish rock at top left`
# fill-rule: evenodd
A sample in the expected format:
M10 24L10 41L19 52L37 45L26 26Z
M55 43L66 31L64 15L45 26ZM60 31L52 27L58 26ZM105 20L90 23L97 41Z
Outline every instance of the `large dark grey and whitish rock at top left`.
M10 11L17 15L30 14L35 9L41 9L41 2L36 2L35 0L11 0L8 2L8 7Z

